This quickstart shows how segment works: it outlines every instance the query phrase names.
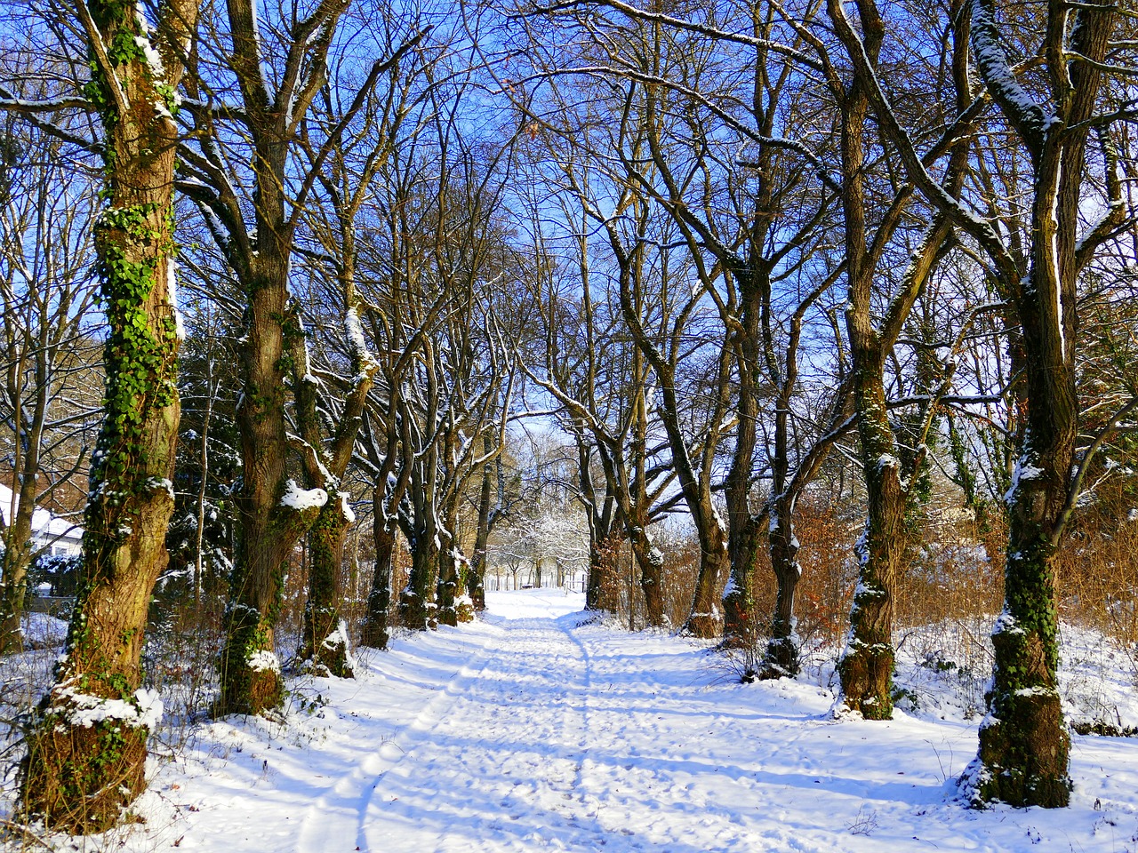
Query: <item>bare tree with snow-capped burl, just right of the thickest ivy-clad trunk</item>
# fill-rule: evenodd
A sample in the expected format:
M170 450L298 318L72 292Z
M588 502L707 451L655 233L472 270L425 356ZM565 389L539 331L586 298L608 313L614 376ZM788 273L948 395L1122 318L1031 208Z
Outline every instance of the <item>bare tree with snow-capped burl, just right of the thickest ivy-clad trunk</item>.
M323 487L300 488L288 477L292 448L310 472L319 471L315 459L323 450L311 431L290 436L288 430L289 381L306 375L295 373L305 341L289 276L297 230L321 169L387 67L377 59L339 121L322 139L306 138L300 144L300 129L324 86L329 51L347 6L348 0L320 0L302 14L294 3L291 11L281 9L279 19L262 20L254 0L229 0L229 31L214 33L220 41L203 42L189 81L185 106L195 133L193 144L182 149L179 185L201 210L246 299L244 394L237 411L244 459L241 538L221 660L217 706L223 713L261 713L283 696L273 649L283 565L328 503ZM225 39L232 50L221 47ZM231 168L241 157L247 171ZM352 312L346 315L351 321ZM314 404L304 384L292 391L305 409L305 429L311 429Z

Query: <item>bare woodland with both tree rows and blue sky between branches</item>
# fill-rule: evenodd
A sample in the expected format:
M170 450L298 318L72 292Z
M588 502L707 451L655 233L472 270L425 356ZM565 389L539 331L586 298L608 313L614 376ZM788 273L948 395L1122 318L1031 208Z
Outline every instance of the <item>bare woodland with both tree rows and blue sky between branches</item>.
M0 646L75 595L31 814L141 792L159 648L271 714L522 566L743 679L824 640L867 719L987 614L963 785L1066 803L1059 616L1138 640L1130 6L2 15Z

